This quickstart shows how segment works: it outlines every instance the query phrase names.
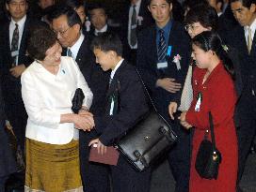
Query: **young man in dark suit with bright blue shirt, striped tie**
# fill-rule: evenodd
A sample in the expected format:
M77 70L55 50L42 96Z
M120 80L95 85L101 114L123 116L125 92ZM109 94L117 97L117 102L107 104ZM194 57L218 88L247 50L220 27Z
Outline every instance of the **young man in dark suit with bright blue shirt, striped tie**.
M178 135L178 142L168 154L176 180L176 192L188 191L190 135L168 115L171 101L180 103L184 77L190 62L190 43L184 26L171 20L171 0L149 0L155 24L138 36L136 66L149 87L157 110ZM150 48L150 49L149 49Z

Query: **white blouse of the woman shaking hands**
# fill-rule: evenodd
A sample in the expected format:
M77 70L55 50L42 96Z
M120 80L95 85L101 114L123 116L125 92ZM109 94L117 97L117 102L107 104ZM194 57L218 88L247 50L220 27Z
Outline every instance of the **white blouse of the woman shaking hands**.
M89 109L92 93L72 57L61 57L56 75L33 62L22 75L22 96L28 114L25 137L51 144L66 144L78 138L72 123L60 124L60 115L72 113L72 96L81 88Z

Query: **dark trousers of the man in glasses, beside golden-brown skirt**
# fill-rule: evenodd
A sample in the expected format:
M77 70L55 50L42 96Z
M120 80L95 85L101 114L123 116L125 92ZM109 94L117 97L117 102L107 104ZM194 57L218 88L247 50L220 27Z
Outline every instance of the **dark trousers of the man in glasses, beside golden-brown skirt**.
M108 166L88 161L90 140L97 138L95 131L79 133L80 172L86 192L109 192Z

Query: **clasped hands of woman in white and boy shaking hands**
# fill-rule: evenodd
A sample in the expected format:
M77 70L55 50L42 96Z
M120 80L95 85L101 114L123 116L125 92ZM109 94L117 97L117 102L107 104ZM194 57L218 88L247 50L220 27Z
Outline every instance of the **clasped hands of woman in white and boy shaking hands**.
M93 114L89 111L80 110L78 114L75 114L74 126L77 129L90 131L95 126Z

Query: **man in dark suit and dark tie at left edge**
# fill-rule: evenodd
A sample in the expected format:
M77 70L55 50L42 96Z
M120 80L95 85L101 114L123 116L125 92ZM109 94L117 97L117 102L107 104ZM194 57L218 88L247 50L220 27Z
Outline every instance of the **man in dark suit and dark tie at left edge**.
M32 61L25 54L26 41L30 28L36 24L26 15L27 7L26 0L7 0L6 8L10 21L1 27L3 52L1 83L6 103L6 114L23 150L27 114L21 95L20 77L25 67Z

